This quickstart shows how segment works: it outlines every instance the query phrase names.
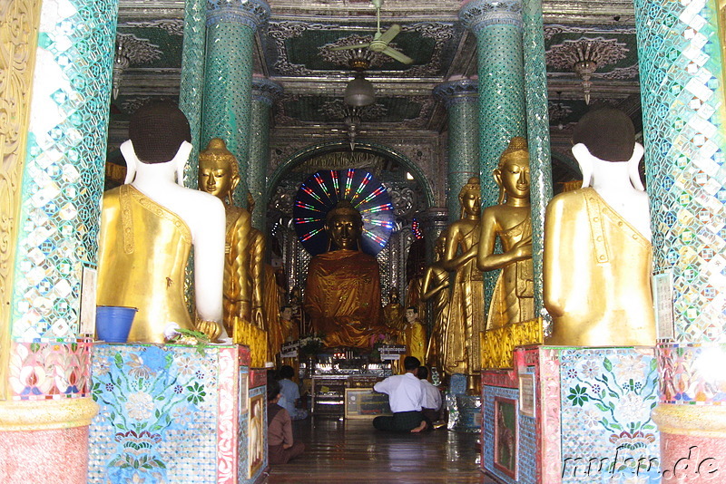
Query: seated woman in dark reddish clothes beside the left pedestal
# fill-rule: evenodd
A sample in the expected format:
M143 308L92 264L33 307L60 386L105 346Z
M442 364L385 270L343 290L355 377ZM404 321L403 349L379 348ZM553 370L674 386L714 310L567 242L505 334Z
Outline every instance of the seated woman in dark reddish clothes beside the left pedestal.
M278 405L281 396L280 383L275 380L269 381L267 426L270 464L287 464L305 450L304 443L292 440L292 421L289 413Z

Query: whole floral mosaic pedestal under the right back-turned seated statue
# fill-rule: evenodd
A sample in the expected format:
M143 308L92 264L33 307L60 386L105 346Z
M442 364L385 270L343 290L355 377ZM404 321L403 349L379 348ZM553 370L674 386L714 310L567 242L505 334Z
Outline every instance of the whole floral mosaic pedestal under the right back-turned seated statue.
M659 482L653 348L523 346L482 372L482 468L505 483Z

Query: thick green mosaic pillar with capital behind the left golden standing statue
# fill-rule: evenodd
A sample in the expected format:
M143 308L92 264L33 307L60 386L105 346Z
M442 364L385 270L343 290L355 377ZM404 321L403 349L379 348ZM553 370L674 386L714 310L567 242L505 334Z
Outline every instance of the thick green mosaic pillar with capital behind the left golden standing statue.
M207 2L207 58L201 145L212 138L227 142L240 163L234 202L247 202L252 99L252 53L260 24L270 18L264 0Z

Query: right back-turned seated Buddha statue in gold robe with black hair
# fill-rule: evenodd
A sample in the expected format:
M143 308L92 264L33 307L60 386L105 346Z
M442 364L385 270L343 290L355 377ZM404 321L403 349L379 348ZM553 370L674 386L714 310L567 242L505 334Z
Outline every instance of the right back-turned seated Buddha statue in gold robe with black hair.
M553 317L545 344L655 344L650 211L634 132L614 108L575 127L583 188L554 197L544 218L544 307Z

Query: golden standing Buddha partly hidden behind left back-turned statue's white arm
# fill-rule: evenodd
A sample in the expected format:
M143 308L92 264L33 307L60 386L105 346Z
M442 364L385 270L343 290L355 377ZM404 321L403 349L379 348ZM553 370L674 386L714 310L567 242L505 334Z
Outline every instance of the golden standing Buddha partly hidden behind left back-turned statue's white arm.
M226 236L224 247L224 325L235 343L242 343L232 321L252 322L252 278L250 276L250 212L232 205L232 193L240 183L240 168L224 140L213 138L199 154L199 188L224 203ZM246 342L245 342L246 343Z

